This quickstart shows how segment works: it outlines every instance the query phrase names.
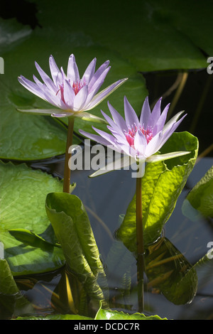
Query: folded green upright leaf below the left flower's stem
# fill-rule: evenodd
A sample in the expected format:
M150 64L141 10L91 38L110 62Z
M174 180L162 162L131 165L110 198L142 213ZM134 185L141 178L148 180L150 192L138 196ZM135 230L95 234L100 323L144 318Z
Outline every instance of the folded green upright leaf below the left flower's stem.
M49 193L45 207L68 270L77 274L89 296L104 300L97 284L98 278L104 281L104 269L82 201L72 194Z

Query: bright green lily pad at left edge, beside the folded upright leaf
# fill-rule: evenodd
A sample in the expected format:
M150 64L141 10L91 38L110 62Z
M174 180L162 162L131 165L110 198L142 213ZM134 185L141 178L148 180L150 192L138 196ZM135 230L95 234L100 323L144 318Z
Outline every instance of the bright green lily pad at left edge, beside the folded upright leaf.
M0 162L0 188L0 240L13 276L51 271L65 264L62 250L54 245L55 235L45 212L45 196L61 191L62 182L23 163ZM40 244L20 241L10 233L13 229L35 233L41 237Z

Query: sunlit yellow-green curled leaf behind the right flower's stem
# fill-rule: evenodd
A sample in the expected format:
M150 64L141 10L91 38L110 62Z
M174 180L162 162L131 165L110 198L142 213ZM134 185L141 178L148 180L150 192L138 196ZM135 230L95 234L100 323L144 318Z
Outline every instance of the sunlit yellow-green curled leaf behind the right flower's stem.
M160 236L172 214L178 197L197 158L198 141L188 132L174 133L160 153L191 151L192 153L165 162L148 163L142 178L144 242L149 244ZM131 251L136 251L136 195L126 210L117 233Z

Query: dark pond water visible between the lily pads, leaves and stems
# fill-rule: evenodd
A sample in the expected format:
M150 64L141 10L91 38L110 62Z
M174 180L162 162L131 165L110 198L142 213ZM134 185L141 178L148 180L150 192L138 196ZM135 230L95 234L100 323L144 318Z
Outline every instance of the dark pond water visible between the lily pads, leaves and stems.
M162 95L163 92L160 92L160 87L170 87L176 75L175 73L164 76L160 74L160 79L158 74L147 75L148 90L153 92L151 100ZM185 90L182 92L182 96L175 107L175 112L184 108L188 113L187 121L185 124L181 124L178 131L190 131L192 120L195 119L194 110L200 101L206 77L207 75L204 71L190 73ZM162 80L164 84L160 85L159 82L162 82ZM158 82L158 85L156 85L156 82ZM198 92L200 92L200 95ZM170 95L169 99L171 100L172 98L173 94ZM165 104L168 103L167 99L165 99ZM202 114L200 114L197 118L197 123L193 125L193 134L198 136L200 141L200 153L212 144L211 122L208 122L212 114L212 103L209 93L204 99L202 113L205 116L202 117ZM209 150L195 164L195 168L192 170L185 188L178 198L175 210L163 231L163 238L165 238L163 240L171 244L174 249L178 249L180 254L192 265L197 263L207 253L207 243L213 242L213 225L212 220L200 218L200 220L195 222L185 217L182 213L182 203L190 189L200 181L200 178L204 176L204 173L212 165L213 156L212 151ZM50 161L33 163L31 166L33 168L42 168L53 173L54 176L62 177L64 160L63 157L58 157ZM116 308L118 311L135 313L138 311L136 260L124 245L116 240L116 230L121 223L121 215L125 214L126 208L136 190L135 179L131 178L129 171L113 171L97 178L88 178L90 173L91 171L72 172L71 181L77 184L73 193L82 200L89 215L94 237L109 278L111 307ZM116 264L121 263L125 259L125 264L118 266L119 269L116 268L116 264L112 265L110 262L111 256L109 254L112 254L111 252L116 257ZM177 253L174 254L175 261L177 261ZM174 262L173 265L178 266L179 264L177 265ZM166 298L166 293L170 294L169 285L167 286L168 291L162 293L160 289L153 289L148 280L145 279L144 313L148 315L158 314L160 317L173 319L212 319L213 266L210 270L204 276L202 276L202 273L198 275L196 296L192 298L190 303L185 305L181 303L180 305L175 305L169 298ZM128 271L126 286L129 286L129 279L129 282L131 282L130 289L127 289L127 287L123 289L125 271ZM164 274L166 274L166 271ZM61 269L50 274L18 277L16 281L23 294L38 309L38 314L53 313L54 311L66 313L69 311L70 306L67 303L66 296L62 296L65 295L65 291L61 292L60 286L62 282L65 282L64 275L64 269ZM75 284L75 278L72 277L70 281L72 282L71 285ZM59 295L60 297L58 297Z

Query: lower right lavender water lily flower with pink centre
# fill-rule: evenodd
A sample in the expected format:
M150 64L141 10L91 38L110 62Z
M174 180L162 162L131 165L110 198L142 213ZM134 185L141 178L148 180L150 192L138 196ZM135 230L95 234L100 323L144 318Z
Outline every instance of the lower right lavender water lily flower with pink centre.
M160 112L160 104L162 98L158 99L153 111L151 112L148 97L146 97L141 110L141 117L138 118L133 107L129 103L128 99L124 97L124 114L125 119L121 117L119 112L114 109L108 102L109 111L111 112L112 119L102 112L104 118L108 122L107 128L111 131L111 134L99 130L92 126L97 134L89 134L86 131L80 130L80 134L87 136L89 139L98 141L104 146L109 146L114 151L124 153L123 166L130 163L129 157L131 157L131 163L137 161L138 163L162 161L175 156L182 156L190 153L189 151L178 151L165 154L155 154L165 144L169 137L173 134L175 129L185 118L186 114L179 119L183 112L178 112L168 123L165 124L168 109L168 104L163 112ZM179 120L178 120L179 119ZM127 159L126 159L127 157ZM97 176L102 173L106 173L109 170L116 169L111 166L104 166L99 171L92 174Z

